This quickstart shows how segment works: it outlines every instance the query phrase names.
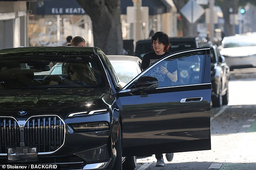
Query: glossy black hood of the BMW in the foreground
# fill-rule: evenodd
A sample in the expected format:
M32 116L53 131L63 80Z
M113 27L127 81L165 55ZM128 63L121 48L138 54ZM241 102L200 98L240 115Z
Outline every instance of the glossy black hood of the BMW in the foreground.
M32 115L61 115L108 108L111 102L108 88L8 90L0 95L0 116L15 116L18 112ZM109 103L108 103L109 102Z

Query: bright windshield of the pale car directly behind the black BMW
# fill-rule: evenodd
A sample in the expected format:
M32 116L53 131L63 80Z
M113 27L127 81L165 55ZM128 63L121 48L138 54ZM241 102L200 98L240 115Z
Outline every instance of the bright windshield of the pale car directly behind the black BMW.
M121 82L128 83L139 74L136 62L110 61Z

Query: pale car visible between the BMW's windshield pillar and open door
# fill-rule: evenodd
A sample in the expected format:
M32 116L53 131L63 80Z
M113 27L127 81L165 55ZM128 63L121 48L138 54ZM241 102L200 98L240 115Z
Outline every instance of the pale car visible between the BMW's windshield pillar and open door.
M141 73L141 59L131 55L107 55L121 82L127 84Z

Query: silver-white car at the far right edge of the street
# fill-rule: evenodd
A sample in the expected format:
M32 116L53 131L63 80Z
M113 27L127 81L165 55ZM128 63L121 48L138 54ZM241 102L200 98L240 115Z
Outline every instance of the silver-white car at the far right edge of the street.
M256 67L256 34L224 37L220 53L230 70Z

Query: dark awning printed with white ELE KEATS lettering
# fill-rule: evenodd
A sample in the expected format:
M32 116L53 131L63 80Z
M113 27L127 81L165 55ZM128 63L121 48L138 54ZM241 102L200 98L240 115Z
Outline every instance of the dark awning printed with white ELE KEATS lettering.
M86 12L76 0L50 0L44 1L40 6L37 4L36 14L86 14Z

